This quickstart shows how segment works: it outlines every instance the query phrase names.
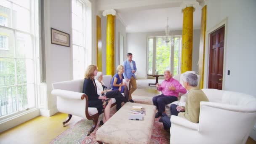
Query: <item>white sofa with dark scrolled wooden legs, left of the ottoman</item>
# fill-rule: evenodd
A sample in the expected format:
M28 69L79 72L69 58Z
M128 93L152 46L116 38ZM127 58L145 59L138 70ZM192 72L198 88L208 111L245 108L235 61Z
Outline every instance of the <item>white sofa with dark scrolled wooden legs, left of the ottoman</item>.
M103 76L103 82L108 88L110 88L111 78L111 75ZM82 93L83 81L84 79L53 83L53 91L51 93L57 96L57 109L59 112L69 114L67 120L63 122L63 126L69 122L72 115L93 120L92 128L88 131L88 135L90 135L96 128L99 113L96 108L88 107L88 97L85 93ZM115 105L115 101L112 98L112 106Z

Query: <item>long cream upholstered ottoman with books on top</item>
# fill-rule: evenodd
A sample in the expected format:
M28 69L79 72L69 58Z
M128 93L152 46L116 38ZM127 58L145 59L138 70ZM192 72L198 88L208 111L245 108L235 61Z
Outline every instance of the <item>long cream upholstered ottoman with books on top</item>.
M144 107L143 120L129 120L132 106ZM155 112L153 105L128 102L96 131L96 139L108 144L149 144Z

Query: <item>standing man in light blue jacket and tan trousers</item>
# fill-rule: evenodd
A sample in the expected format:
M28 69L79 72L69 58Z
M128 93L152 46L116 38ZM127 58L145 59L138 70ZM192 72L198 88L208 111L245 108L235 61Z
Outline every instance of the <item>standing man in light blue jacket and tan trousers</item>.
M134 102L131 94L133 93L133 91L135 91L137 89L137 83L136 83L136 77L135 77L135 72L137 71L136 68L136 64L135 61L133 61L133 54L131 53L127 53L127 60L123 62L123 67L125 68L125 72L123 73L126 82L128 82L129 80L131 81L131 83L129 83L129 101L130 102Z

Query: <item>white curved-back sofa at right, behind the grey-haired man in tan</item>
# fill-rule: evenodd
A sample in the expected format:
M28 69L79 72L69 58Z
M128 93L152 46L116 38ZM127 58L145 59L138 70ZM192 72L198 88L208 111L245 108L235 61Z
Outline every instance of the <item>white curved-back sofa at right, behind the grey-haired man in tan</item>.
M256 123L256 97L202 89L199 123L171 116L170 144L245 144Z

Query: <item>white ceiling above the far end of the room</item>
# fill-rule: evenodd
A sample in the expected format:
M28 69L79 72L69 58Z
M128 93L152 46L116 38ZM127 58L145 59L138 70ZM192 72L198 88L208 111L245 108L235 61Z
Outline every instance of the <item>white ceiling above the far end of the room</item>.
M98 0L99 11L115 9L117 17L126 26L126 32L165 31L167 17L171 30L181 30L183 13L182 0ZM195 8L193 27L200 29L201 7Z

